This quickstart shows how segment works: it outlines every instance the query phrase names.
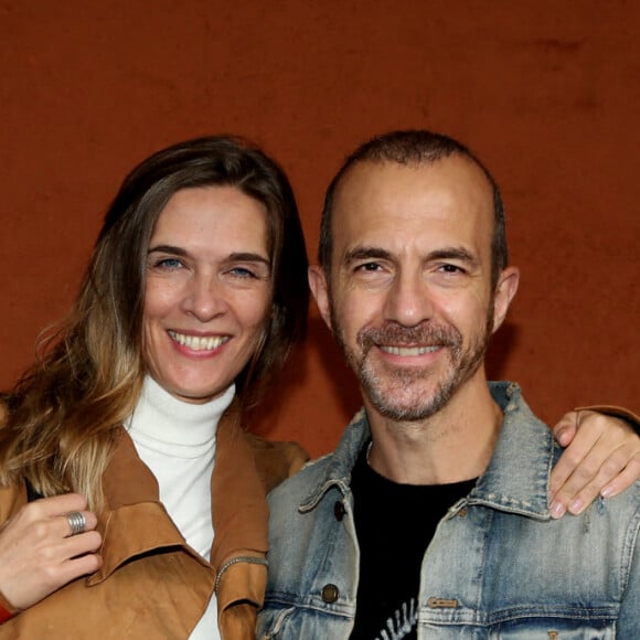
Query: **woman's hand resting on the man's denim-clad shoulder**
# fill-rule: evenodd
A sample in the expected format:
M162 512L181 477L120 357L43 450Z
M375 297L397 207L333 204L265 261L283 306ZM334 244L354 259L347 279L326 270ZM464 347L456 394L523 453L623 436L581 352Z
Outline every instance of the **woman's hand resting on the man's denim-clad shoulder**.
M582 513L640 478L640 436L627 422L591 410L570 412L553 429L564 447L551 477L553 518Z

